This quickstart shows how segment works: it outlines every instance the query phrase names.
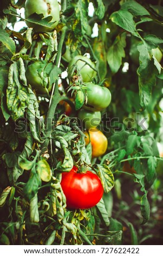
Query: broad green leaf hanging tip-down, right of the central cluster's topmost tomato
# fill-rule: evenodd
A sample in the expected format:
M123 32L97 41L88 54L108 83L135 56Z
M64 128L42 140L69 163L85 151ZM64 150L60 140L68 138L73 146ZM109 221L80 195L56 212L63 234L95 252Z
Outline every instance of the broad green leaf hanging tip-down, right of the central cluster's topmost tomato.
M126 33L118 35L107 52L107 62L113 73L118 72L122 58L125 57L124 48L126 47Z

